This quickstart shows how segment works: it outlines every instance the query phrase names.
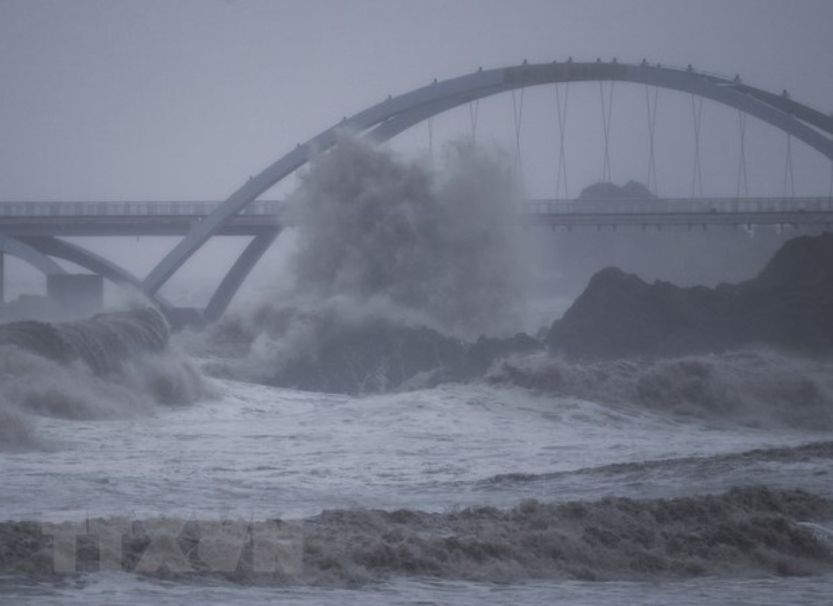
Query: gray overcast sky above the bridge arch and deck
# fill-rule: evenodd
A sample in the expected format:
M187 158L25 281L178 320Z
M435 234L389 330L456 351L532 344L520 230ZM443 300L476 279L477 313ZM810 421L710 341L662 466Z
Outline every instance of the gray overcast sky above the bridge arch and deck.
M831 112L831 25L830 0L0 0L0 199L222 199L389 93L524 58L691 63Z

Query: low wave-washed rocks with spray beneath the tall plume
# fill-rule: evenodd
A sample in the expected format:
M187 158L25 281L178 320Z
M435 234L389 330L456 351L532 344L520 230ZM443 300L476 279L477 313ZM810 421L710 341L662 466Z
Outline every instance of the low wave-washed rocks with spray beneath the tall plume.
M301 314L272 305L224 320L209 334L191 348L210 375L350 395L481 380L495 360L543 347L525 334L471 342L379 316Z

